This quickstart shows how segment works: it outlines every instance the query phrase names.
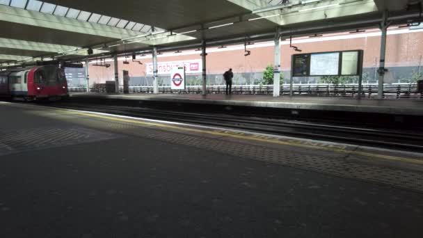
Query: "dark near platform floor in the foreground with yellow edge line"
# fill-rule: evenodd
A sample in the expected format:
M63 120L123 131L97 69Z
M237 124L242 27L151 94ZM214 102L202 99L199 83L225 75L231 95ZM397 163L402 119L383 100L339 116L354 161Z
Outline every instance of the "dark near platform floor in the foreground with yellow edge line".
M423 235L421 154L25 104L0 115L0 237Z

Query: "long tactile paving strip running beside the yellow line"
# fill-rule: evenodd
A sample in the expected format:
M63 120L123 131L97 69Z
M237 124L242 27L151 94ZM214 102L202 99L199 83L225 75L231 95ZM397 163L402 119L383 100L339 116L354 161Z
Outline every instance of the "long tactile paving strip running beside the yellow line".
M276 148L267 148L262 145L245 144L241 143L241 141L237 143L225 141L223 139L184 134L182 132L168 132L161 129L150 129L148 127L134 125L129 122L111 122L110 120L98 118L84 118L83 120L79 120L79 122L88 127L95 127L102 130L106 129L115 133L153 138L160 141L232 154L237 157L256 159L295 168L314 170L340 177L390 184L394 187L423 191L423 173L359 164L357 162L340 159L340 154L336 153L334 153L333 156L328 154L321 156L312 154L311 150L298 154L285 149L278 150Z

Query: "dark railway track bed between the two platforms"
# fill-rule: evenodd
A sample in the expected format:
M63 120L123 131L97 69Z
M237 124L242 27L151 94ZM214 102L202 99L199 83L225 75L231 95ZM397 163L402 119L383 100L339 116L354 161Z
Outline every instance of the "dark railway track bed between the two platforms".
M186 113L129 106L104 106L98 104L59 103L47 104L56 108L112 113L155 120L184 122L228 129L242 129L279 136L292 136L314 140L333 141L355 145L374 146L412 152L423 152L423 134L410 130L369 129L291 120L271 120L214 113Z

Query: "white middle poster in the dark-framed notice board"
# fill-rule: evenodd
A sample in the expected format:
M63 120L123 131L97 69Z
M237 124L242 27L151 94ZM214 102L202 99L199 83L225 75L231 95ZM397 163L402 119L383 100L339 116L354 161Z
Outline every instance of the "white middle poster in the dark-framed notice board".
M310 75L337 75L340 68L340 53L312 54Z

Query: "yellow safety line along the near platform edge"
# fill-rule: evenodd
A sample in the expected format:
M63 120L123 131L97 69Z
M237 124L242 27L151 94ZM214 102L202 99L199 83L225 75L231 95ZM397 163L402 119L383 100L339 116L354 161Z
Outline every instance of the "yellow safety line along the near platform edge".
M61 111L61 112L64 112L64 113L77 114L77 115L81 115L81 116L90 116L90 117L94 117L94 118L103 118L103 119L108 119L108 120L115 120L115 121L120 121L120 122L130 122L130 123L135 123L135 124L138 124L138 125L150 125L150 126L154 126L154 127L179 129L179 130L183 130L183 131L186 131L186 132L198 132L198 133L202 133L202 134L212 134L212 135L215 135L215 136L228 136L228 137L232 137L232 138L241 138L241 139L249 140L249 141L260 141L260 142L274 143L274 144L279 144L279 145L292 145L292 146L296 146L296 147L308 148L308 149L314 149L314 150L326 150L326 151L338 152L338 153L342 153L342 154L348 154L349 153L349 154L362 155L362 156L365 156L365 157L376 157L378 159L388 159L388 160L402 161L402 162L408 162L408 163L413 163L413 164L423 164L423 160L409 159L409 158L404 158L404 157L394 157L394 156L385 155L385 154L374 154L374 153L370 153L370 152L343 150L343 149L337 149L337 148L326 148L326 147L321 147L321 146L316 146L316 145L304 145L304 144L301 144L301 143L279 141L278 139L257 138L257 137L254 137L254 136L243 136L243 135L239 135L239 134L227 134L227 133L223 133L223 132L212 132L212 131L207 131L207 130L203 130L203 129L193 129L193 128L187 128L187 127L178 127L178 126L175 126L175 125L165 125L165 124L156 123L156 122L144 122L144 121L141 121L141 120L130 120L130 119L125 119L125 118L115 118L115 117L112 117L112 116L102 116L102 115L98 115L98 114L83 113L83 112L78 112L78 111L63 111L63 110L58 110L58 111Z

